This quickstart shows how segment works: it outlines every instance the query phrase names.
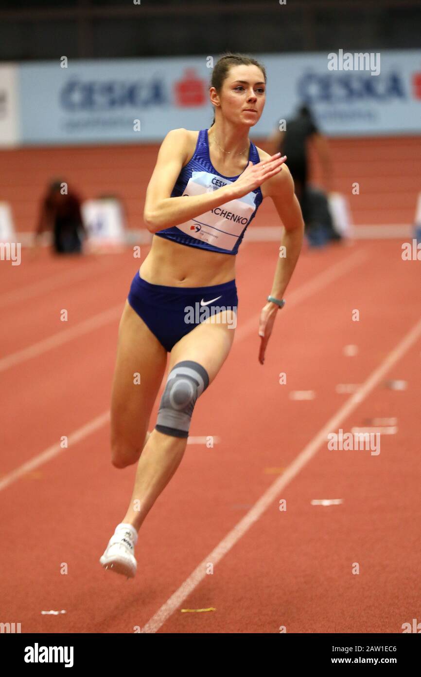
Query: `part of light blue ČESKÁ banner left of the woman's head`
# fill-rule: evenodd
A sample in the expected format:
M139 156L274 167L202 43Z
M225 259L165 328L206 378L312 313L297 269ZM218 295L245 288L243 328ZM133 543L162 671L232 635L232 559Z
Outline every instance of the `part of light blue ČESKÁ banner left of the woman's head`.
M159 141L212 124L205 58L28 64L20 68L22 141Z

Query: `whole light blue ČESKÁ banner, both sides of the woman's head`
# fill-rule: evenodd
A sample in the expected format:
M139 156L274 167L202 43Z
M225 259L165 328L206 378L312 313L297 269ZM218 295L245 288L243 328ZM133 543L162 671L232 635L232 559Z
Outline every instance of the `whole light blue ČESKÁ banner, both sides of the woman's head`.
M331 136L421 133L421 50L254 56L268 74L255 137L271 133L303 102ZM209 127L216 60L61 58L22 64L20 141L142 143L161 141L177 127Z

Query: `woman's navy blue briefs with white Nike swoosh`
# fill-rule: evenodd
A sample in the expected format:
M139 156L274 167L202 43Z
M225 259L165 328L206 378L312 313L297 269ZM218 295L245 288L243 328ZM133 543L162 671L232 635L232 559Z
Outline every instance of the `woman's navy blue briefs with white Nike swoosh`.
M209 316L230 309L237 313L239 303L235 280L206 287L168 287L143 280L139 270L127 300L168 353Z

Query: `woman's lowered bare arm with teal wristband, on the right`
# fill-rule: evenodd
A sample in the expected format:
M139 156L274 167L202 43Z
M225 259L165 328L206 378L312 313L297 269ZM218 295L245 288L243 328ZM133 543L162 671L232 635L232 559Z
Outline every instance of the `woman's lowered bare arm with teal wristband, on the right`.
M282 299L291 280L291 276L297 264L301 245L303 244L304 221L299 202L294 193L294 181L287 165L282 166L282 171L268 181L268 192L276 207L276 211L284 226L278 261L272 282L270 296ZM259 336L261 337L259 349L259 362L264 364L266 345L268 345L276 313L280 307L272 301L268 301L262 308L259 321Z

